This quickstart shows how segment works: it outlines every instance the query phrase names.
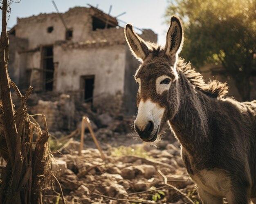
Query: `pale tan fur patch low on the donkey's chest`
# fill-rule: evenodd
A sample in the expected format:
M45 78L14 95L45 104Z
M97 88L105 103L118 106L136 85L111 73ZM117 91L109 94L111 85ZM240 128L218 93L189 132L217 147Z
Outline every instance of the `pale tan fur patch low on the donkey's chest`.
M221 169L203 169L190 176L200 189L212 195L224 197L231 189L231 180Z

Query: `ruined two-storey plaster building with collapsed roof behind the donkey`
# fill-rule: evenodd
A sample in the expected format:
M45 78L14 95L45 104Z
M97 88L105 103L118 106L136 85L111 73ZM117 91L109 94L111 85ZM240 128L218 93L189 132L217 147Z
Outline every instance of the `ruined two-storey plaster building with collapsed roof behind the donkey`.
M151 30L141 36L157 42ZM19 87L72 93L94 107L136 112L133 75L139 63L116 18L94 7L18 18L9 41L9 74Z

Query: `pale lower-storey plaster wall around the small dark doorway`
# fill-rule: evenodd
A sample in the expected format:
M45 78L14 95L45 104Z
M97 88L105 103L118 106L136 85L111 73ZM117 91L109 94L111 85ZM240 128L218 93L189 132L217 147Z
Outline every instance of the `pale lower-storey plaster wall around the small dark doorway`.
M56 91L80 90L81 77L95 75L94 97L123 93L125 60L124 45L84 49L55 46L54 62L58 62Z

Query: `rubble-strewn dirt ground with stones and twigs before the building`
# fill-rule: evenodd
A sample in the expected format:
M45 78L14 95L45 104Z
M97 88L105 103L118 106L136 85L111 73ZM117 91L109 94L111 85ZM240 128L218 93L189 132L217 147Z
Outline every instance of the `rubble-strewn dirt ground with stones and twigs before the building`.
M200 203L170 131L156 148L136 140L134 133L113 129L95 131L106 159L90 133L85 133L81 156L79 135L55 147L52 168L67 204ZM60 192L58 185L55 190ZM50 194L46 203L63 203L61 195Z

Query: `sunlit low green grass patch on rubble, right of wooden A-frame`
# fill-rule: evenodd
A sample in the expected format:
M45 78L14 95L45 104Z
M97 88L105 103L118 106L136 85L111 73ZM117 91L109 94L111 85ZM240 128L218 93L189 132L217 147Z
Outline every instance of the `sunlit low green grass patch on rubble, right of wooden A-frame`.
M139 156L142 158L148 158L148 153L143 149L143 147L125 147L119 146L117 148L110 149L110 155L114 157L121 157L121 156Z

